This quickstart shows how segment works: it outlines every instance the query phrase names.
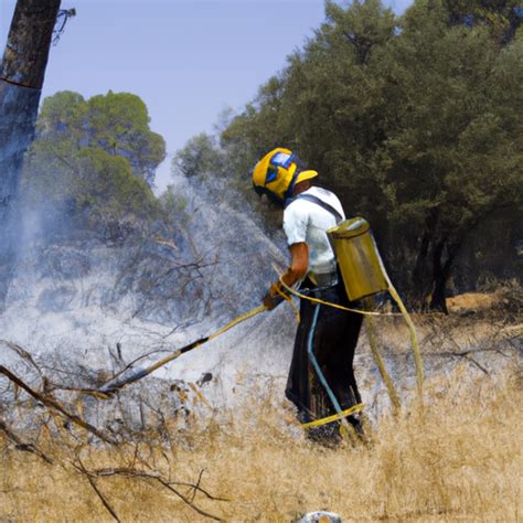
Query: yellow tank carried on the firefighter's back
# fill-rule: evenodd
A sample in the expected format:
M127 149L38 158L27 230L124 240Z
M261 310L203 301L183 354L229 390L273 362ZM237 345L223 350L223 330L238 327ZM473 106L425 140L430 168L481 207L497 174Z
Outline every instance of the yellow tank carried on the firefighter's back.
M327 233L351 301L388 289L369 222L344 220Z

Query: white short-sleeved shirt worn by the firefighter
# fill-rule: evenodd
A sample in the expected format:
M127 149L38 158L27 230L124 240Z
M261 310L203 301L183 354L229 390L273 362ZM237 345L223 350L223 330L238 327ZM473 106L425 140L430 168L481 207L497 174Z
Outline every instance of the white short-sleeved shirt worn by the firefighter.
M312 186L300 194L311 194L334 207L345 218L340 200L327 189ZM284 212L284 231L289 245L305 242L309 247L309 271L335 271L335 256L327 230L337 225L332 213L307 199L292 201Z

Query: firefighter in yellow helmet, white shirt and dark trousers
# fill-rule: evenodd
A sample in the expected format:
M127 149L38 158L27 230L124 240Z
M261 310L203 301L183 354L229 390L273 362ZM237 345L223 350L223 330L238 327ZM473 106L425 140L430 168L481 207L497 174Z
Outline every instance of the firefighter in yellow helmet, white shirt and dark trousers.
M335 194L313 185L317 177L318 172L305 169L290 150L277 148L256 164L253 184L258 194L266 194L284 207L290 265L282 281L289 287L298 286L300 292L311 297L351 307L327 235L345 215ZM274 309L285 292L285 287L276 281L264 299L265 306ZM361 403L353 371L361 324L361 314L300 300L300 323L286 396L297 406L301 423ZM348 420L361 431L356 415ZM310 436L337 439L338 425L324 425Z

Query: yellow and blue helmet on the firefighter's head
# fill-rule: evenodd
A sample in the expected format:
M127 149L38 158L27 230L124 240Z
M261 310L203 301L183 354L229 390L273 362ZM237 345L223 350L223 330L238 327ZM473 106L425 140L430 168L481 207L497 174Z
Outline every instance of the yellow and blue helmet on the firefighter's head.
M253 185L258 194L267 194L279 203L292 195L298 182L310 180L318 172L302 170L300 160L289 149L277 147L256 163L253 171Z

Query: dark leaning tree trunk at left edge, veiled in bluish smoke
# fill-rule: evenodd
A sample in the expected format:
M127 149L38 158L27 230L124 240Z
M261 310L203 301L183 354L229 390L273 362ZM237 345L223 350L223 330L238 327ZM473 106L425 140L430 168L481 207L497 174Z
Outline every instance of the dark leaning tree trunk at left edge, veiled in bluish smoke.
M17 199L23 154L34 136L61 0L18 0L0 66L0 309L20 237Z

